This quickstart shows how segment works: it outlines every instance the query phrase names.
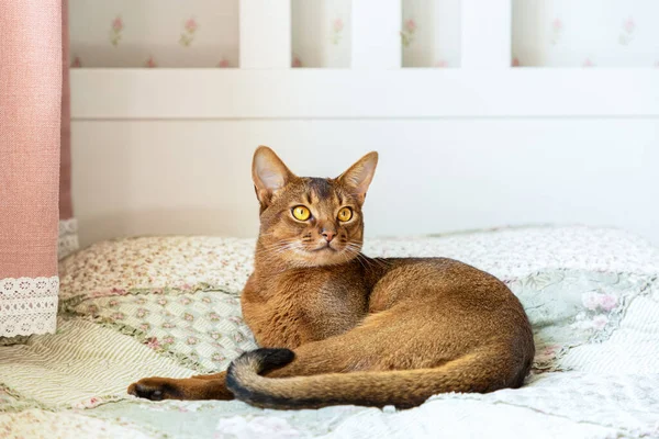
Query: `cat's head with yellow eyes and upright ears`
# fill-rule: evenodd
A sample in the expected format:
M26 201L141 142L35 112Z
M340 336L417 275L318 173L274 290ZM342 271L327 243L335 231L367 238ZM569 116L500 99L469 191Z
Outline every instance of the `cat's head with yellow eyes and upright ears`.
M377 164L378 154L369 153L337 178L298 177L272 149L257 148L252 178L260 203L261 260L317 267L357 257L361 205Z

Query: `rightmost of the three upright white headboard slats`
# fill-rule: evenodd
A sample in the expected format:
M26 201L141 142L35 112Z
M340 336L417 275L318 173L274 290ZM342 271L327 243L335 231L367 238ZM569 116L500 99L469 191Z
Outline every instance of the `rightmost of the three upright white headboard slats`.
M512 0L462 0L461 68L511 66Z

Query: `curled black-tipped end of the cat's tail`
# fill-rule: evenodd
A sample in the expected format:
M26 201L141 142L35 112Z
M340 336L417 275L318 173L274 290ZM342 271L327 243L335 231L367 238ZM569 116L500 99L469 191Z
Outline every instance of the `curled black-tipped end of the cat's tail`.
M295 353L290 349L261 348L243 353L228 365L226 386L238 398L246 399L250 393L241 379L244 374L260 374L282 368L293 361ZM246 370L248 369L248 370Z

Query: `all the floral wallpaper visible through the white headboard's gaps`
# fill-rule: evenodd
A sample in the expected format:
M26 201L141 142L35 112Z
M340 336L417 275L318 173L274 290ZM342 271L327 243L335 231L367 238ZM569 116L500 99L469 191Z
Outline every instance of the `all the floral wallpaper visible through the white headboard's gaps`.
M292 67L349 68L351 2L291 0ZM517 66L658 67L655 0L512 0ZM401 0L403 67L460 66L460 0ZM239 0L70 0L71 67L238 67Z

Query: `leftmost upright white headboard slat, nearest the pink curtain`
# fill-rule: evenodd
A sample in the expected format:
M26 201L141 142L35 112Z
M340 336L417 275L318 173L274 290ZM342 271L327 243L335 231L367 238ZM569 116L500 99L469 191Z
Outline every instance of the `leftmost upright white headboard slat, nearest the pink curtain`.
M290 0L241 0L241 69L291 66Z

